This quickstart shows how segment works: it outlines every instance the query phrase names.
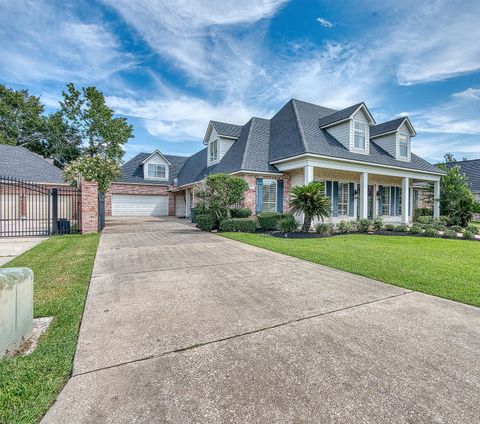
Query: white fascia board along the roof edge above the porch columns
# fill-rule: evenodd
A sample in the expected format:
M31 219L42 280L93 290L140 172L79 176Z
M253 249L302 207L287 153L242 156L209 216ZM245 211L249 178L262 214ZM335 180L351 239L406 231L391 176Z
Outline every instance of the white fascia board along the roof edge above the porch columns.
M321 155L300 155L295 158L272 162L279 171L291 171L311 165L317 168L335 169L350 172L368 172L370 174L386 175L391 177L409 177L425 181L440 181L441 172L411 170L395 166L369 164L360 161L331 158Z

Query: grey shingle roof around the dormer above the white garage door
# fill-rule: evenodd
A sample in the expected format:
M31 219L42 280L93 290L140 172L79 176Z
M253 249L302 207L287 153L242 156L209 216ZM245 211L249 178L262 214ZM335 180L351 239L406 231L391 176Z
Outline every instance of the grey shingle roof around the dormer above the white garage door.
M165 182L155 181L155 180L146 180L143 177L143 163L148 159L152 153L139 153L128 162L123 164L121 169L121 176L115 182L121 183L141 183L141 184L162 184ZM163 155L162 156L170 162L169 178L170 182L173 182L177 178L178 173L182 169L183 165L187 161L188 157L185 156L173 156L173 155Z

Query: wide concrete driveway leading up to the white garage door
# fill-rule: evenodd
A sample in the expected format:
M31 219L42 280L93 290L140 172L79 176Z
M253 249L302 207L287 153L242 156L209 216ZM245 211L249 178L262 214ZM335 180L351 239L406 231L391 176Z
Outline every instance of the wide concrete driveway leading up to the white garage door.
M480 309L116 219L45 423L478 422Z

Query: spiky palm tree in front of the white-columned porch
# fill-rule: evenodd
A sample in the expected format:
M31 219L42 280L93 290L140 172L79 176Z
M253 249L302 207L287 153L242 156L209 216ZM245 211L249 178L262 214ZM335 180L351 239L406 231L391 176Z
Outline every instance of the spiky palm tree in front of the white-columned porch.
M324 196L324 185L319 182L311 182L304 186L295 186L292 188L290 200L290 210L293 213L303 213L303 231L308 232L313 218L323 218L330 216L330 200Z

